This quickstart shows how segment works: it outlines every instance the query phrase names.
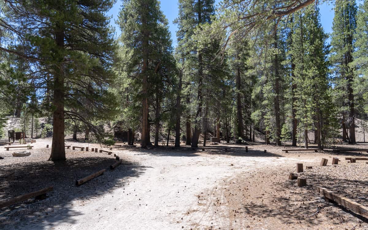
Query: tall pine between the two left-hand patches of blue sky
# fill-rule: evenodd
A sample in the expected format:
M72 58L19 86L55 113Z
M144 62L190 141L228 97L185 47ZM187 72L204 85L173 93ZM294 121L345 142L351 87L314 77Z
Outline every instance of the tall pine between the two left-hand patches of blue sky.
M151 145L149 107L152 98L149 95L154 95L155 145L158 145L161 103L164 102L164 96L169 98L170 92L173 92L176 77L168 22L157 0L125 0L118 24L122 31L121 79L129 82L124 90L134 102L130 106L133 106L131 111L135 115L130 116L135 117L136 122L142 121L142 148ZM139 111L140 102L142 113L139 115L136 112ZM171 110L168 112L171 113Z

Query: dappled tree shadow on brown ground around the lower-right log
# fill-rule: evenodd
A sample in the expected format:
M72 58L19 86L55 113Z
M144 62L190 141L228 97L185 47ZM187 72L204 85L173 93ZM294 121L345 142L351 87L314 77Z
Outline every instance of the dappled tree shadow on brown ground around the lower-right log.
M306 177L304 177L306 178ZM346 208L336 204L325 202L322 195L317 192L317 187L328 188L339 195L352 199L362 205L368 205L368 190L361 191L360 188L367 187L367 180L349 180L326 177L323 174L308 174L308 185L299 188L295 180L273 183L273 190L277 195L262 194L262 202L255 199L248 204L243 204L242 211L247 217L262 219L274 218L285 224L301 224L305 227L318 226L323 222L329 222L332 226L349 220L368 223L368 219L350 212ZM258 197L256 197L258 198ZM333 209L337 207L337 209ZM344 215L344 212L351 216ZM321 214L322 213L322 214ZM321 215L321 216L320 216Z

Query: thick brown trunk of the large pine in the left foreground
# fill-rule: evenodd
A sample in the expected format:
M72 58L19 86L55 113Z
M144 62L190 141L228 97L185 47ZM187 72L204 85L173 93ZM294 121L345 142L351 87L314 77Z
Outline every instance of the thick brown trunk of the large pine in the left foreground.
M61 27L59 27L60 29ZM55 33L56 44L59 49L64 49L64 31L60 29ZM63 60L61 60L63 61ZM63 64L56 68L54 74L54 98L53 106L53 136L51 147L51 160L66 160L64 143L64 67Z

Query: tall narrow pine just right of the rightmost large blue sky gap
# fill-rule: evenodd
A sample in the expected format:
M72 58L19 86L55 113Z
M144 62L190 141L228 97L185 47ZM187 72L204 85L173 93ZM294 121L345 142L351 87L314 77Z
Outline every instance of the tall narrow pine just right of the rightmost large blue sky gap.
M350 66L353 61L354 33L357 7L355 0L337 0L335 2L335 17L333 18L331 35L332 73L335 84L335 103L340 108L342 116L343 140L355 144L355 111L353 81L354 70ZM349 129L350 137L346 135Z

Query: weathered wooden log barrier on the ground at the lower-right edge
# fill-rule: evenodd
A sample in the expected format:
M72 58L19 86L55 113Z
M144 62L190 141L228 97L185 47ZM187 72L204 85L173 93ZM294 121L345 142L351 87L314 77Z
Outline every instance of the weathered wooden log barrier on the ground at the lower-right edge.
M344 206L345 208L357 213L365 218L368 218L368 208L358 204L351 199L337 195L336 193L329 191L327 188L318 187L318 192L326 198L335 201L337 204Z

